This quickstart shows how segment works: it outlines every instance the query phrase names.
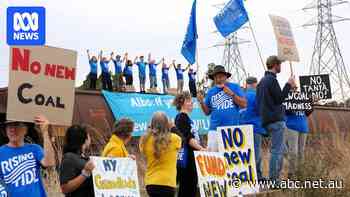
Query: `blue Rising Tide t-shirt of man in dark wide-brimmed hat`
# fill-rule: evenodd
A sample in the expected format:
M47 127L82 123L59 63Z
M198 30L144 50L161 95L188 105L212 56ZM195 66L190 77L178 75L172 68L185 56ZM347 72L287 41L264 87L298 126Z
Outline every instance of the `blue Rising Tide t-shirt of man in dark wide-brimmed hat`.
M226 83L226 86L237 96L244 94L238 84ZM233 98L227 95L223 88L217 86L208 90L205 104L210 110L210 130L220 126L232 126L239 124L239 107L233 102Z

